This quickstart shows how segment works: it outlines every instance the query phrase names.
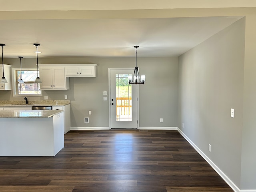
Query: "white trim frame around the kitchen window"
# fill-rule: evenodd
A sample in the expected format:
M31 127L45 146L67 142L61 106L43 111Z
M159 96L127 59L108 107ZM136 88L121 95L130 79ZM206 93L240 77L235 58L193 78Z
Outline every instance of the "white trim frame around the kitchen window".
M22 71L23 70L36 71L37 68L22 68ZM12 68L12 96L13 97L42 97L43 96L42 90L41 90L41 94L18 94L18 84L16 83L17 82L16 71L20 71L20 68Z

